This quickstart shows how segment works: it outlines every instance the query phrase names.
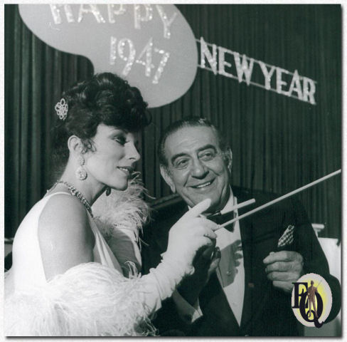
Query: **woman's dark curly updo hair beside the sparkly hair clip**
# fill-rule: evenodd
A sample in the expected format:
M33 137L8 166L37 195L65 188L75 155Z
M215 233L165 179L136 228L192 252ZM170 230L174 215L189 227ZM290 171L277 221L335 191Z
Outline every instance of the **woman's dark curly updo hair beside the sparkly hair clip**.
M149 125L151 118L138 88L113 73L98 73L76 83L63 93L68 103L65 120L53 128L53 165L59 173L68 162L68 138L76 135L92 149L92 140L100 123L136 133Z

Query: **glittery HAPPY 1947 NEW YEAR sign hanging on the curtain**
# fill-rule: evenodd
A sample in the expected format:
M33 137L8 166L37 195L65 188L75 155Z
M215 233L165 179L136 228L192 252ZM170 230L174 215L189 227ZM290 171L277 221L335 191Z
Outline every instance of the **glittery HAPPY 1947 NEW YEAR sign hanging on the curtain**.
M198 67L316 105L316 81L196 39L171 4L20 4L19 11L42 41L89 58L96 73L110 71L127 79L149 107L180 98Z

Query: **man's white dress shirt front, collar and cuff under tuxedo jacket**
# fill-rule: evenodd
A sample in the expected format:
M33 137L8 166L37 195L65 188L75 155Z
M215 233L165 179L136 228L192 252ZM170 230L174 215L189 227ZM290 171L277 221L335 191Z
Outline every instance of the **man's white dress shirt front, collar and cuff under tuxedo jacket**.
M221 214L229 212L237 204L230 189L230 197L225 207L220 211ZM237 209L235 210L235 217ZM217 234L216 246L220 248L221 259L216 270L220 286L222 286L230 308L233 310L237 323L241 322L243 298L245 295L245 267L243 264L242 242L240 234L240 224L234 223L233 232L228 229L220 228ZM183 297L175 291L173 301L178 309L178 313L187 323L193 323L198 317L202 316L198 302L191 306Z

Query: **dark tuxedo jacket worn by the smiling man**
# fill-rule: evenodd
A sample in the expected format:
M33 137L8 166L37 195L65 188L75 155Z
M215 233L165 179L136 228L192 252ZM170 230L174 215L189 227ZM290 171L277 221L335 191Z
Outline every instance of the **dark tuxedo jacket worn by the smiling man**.
M233 187L237 202L255 198L255 204L238 210L239 216L261 204L274 199L274 195L251 193ZM169 229L187 211L182 201L175 207L154 213L154 219L144 229L142 249L143 274L161 261L166 251ZM240 326L230 309L216 274L199 296L203 316L191 324L185 323L176 311L172 299L163 303L154 325L164 336L299 336L303 326L292 311L291 294L275 289L267 279L263 259L269 252L277 252L279 237L289 224L294 226L294 241L283 247L296 251L304 258L304 274L316 273L326 279L333 293L333 308L329 320L334 318L341 306L341 286L329 274L329 266L316 234L301 204L290 197L266 209L240 220L240 234L245 267L245 296Z

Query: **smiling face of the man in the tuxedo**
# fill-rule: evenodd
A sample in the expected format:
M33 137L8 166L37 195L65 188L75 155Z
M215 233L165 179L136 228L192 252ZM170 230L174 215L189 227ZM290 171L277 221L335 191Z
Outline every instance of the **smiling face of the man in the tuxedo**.
M229 198L231 151L220 150L218 137L210 127L181 128L166 139L168 167L161 175L173 192L193 207L211 199L209 213L223 209Z

